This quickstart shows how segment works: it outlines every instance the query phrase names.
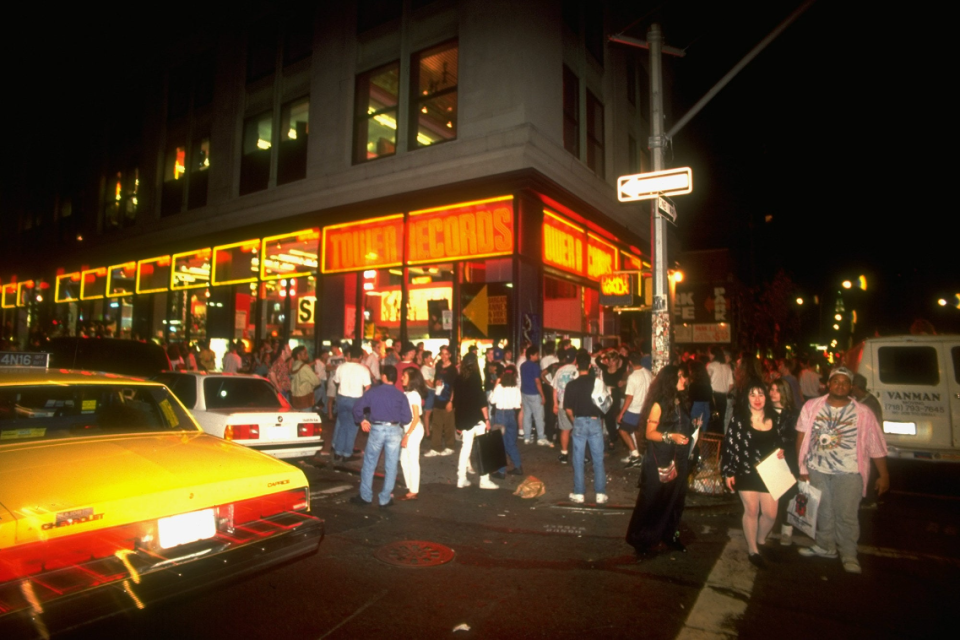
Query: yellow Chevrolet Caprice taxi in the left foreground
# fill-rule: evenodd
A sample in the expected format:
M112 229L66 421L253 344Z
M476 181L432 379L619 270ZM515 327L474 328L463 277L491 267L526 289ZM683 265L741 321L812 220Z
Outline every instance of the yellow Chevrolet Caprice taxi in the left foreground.
M29 359L0 362L0 637L318 549L323 521L296 467L205 434L162 384Z

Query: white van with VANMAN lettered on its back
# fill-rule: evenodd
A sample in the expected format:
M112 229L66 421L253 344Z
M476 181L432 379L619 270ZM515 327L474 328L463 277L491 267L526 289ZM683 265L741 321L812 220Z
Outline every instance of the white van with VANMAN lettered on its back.
M846 360L880 400L889 457L960 462L960 336L868 338Z

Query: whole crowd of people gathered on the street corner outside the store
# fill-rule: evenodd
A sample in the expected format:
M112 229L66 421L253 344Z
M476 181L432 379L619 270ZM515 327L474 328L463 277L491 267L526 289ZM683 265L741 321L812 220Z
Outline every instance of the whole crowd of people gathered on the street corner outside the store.
M750 562L766 566L777 524L780 543L791 544L784 513L796 488L774 499L757 471L760 461L777 456L797 480L822 492L817 538L801 555L839 556L845 570L860 572L857 506L868 490L889 487L880 404L862 376L840 367L824 378L813 360L747 352L734 358L721 347L676 353L656 375L649 355L626 345L588 353L559 340L523 345L518 353L514 361L509 349L481 356L471 347L457 362L448 345L434 355L423 343L388 348L377 340L366 350L334 342L311 358L302 346L267 342L246 353L238 342L221 368L269 379L293 407L318 411L334 425L334 462L363 458L360 493L352 499L359 505L393 505L398 471L406 493L396 499L419 499L421 455L450 456L458 446L456 486L471 486L476 438L492 429L502 432L508 465L484 470L481 489L525 473L521 443L557 447L557 463L573 467L569 501L587 501L589 467L590 502L602 505L611 455L621 448L624 467L640 468L626 535L639 558L684 550L680 519L698 441L707 432L722 434L721 474L743 505ZM171 345L168 354L176 367L214 365L208 345L196 353ZM384 484L374 495L381 455Z

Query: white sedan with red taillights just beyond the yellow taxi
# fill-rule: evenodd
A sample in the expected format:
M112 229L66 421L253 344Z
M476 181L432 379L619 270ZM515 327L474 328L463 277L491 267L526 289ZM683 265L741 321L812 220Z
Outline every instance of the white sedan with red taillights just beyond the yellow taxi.
M207 433L277 458L305 458L323 448L320 415L292 409L260 376L165 371L167 385Z

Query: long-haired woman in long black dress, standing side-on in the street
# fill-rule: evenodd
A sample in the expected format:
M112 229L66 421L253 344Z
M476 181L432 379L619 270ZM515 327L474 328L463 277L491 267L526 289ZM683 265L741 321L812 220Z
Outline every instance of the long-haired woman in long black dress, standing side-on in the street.
M686 367L669 365L650 384L640 412L646 425L647 451L641 465L640 495L627 528L627 542L638 557L663 543L684 551L680 516L687 494L690 439L695 430L681 392L687 386Z

